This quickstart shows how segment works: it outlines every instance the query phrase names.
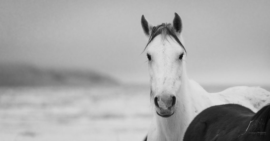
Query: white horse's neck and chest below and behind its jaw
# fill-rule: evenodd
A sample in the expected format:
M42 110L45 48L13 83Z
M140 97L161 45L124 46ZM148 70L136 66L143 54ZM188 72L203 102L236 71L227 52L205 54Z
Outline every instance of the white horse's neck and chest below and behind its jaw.
M188 79L185 68L181 86L177 93L176 112L170 118L162 118L156 115L157 125L161 133L166 136L166 140L183 139L184 132L191 120L203 110L205 106L205 93L207 93L198 83ZM203 98L204 100L202 100ZM210 101L209 101L210 102Z

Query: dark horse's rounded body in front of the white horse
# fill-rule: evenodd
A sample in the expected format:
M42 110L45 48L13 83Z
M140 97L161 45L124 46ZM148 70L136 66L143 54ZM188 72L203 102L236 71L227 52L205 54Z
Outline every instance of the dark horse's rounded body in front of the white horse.
M207 108L192 120L185 132L184 141L192 140L270 141L270 104L256 114L238 104Z

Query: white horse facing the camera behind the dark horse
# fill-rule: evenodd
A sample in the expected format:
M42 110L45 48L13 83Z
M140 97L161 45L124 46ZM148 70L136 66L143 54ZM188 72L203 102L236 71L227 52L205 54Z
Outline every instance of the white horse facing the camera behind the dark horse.
M270 103L270 92L259 87L238 86L208 93L189 79L180 34L182 22L177 13L172 24L162 23L158 26L149 24L142 15L141 25L149 38L144 51L149 60L151 102L156 113L147 140L182 140L191 120L213 105L237 103L257 112Z

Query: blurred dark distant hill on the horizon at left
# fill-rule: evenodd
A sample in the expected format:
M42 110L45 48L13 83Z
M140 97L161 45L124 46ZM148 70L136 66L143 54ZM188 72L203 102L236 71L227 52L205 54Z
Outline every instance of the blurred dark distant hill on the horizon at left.
M108 75L90 70L42 69L33 65L0 64L0 86L117 85Z

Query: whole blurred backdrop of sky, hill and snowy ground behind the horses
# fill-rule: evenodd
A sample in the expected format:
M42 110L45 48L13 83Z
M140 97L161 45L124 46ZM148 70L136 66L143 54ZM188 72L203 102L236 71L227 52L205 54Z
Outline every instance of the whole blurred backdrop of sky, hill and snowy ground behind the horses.
M208 92L270 90L269 1L0 2L0 138L142 140L151 123L140 19L183 22Z

